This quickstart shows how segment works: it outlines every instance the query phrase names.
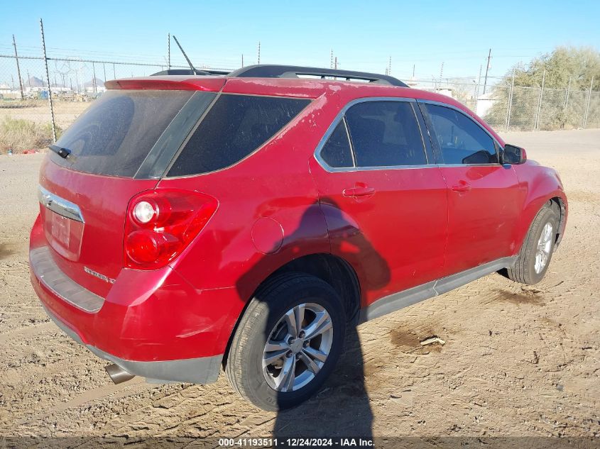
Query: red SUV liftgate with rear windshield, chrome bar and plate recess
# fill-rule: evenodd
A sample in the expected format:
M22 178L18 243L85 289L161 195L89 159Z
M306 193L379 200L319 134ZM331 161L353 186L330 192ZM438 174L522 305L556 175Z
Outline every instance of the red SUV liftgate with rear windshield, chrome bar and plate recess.
M38 187L45 237L62 272L107 294L124 263L129 200L156 186L215 95L109 90L67 129L56 145L70 155L49 152Z

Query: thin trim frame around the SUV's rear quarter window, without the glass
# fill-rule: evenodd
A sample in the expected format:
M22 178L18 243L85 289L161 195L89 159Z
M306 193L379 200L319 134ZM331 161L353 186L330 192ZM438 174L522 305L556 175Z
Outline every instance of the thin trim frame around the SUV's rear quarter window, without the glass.
M217 101L219 101L219 98L221 98L222 95L267 96L269 98L285 98L285 99L307 100L308 103L306 104L306 106L304 106L302 109L300 109L300 111L298 111L298 114L296 114L296 116L294 118L292 118L292 120L290 120L288 123L285 123L285 126L283 126L283 128L281 128L277 133L275 133L275 135L272 135L271 138L269 138L268 140L266 140L265 142L263 142L263 144L260 145L258 148L256 148L256 150L254 150L252 153L249 153L248 155L242 157L239 161L235 162L234 164L228 165L227 167L219 168L217 170L212 170L211 172L203 172L203 173L195 173L195 174L181 174L179 176L168 176L168 172L171 170L171 168L173 167L173 165L175 165L175 162L177 162L178 157L180 156L180 154L183 152L183 149L185 148L185 145L187 145L187 143L190 141L190 139L192 138L192 135L194 135L194 133L196 132L197 128L200 127L200 124L202 123L202 121L204 121L204 118L206 118L206 116L208 115L208 113L212 110L212 107L214 106L214 104L216 104ZM177 152L175 152L175 155L173 156L173 159L170 160L169 164L167 165L167 168L163 172L163 175L160 177L160 179L167 180L167 179L192 178L192 177L197 177L197 176L204 176L205 174L212 174L212 173L216 173L216 172L222 172L223 170L229 170L231 167L235 167L236 165L240 164L241 162L244 162L244 160L246 160L249 157L251 157L251 156L255 155L256 153L258 153L258 151L260 151L265 145L268 145L269 143L271 143L271 141L274 138L276 138L278 135L280 135L281 133L283 133L284 131L286 131L290 126L294 126L295 122L297 121L297 119L300 116L302 116L302 113L304 113L306 111L306 109L309 108L313 104L314 101L315 101L314 98L310 98L310 97L307 97L307 96L239 94L237 92L218 92L217 96L214 97L214 99L212 100L211 104L209 104L209 106L202 113L202 115L200 116L200 118L198 118L198 121L192 127L192 131L190 131L190 133L188 133L187 136L186 136L186 138L183 140L182 144L178 148Z

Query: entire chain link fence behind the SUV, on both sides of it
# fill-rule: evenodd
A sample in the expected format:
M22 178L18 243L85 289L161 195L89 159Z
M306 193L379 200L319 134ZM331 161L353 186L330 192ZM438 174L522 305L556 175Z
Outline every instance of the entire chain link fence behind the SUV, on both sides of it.
M102 95L105 80L166 69L165 64L0 54L0 153L48 146L53 141L53 120L60 136ZM600 128L598 91L511 86L501 78L493 82L482 87L476 78L463 77L412 79L408 84L461 101L496 131Z

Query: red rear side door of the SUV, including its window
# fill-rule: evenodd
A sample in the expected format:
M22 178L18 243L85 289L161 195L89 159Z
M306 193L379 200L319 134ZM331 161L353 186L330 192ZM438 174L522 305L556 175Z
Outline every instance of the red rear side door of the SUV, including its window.
M367 304L442 272L446 186L427 163L414 106L349 104L311 160L332 253L354 266Z

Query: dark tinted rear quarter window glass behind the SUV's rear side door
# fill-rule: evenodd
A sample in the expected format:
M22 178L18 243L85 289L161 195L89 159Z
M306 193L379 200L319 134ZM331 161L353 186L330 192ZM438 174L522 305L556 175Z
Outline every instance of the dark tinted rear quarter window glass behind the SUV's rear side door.
M276 135L309 103L307 99L222 94L168 176L214 172L234 165Z

